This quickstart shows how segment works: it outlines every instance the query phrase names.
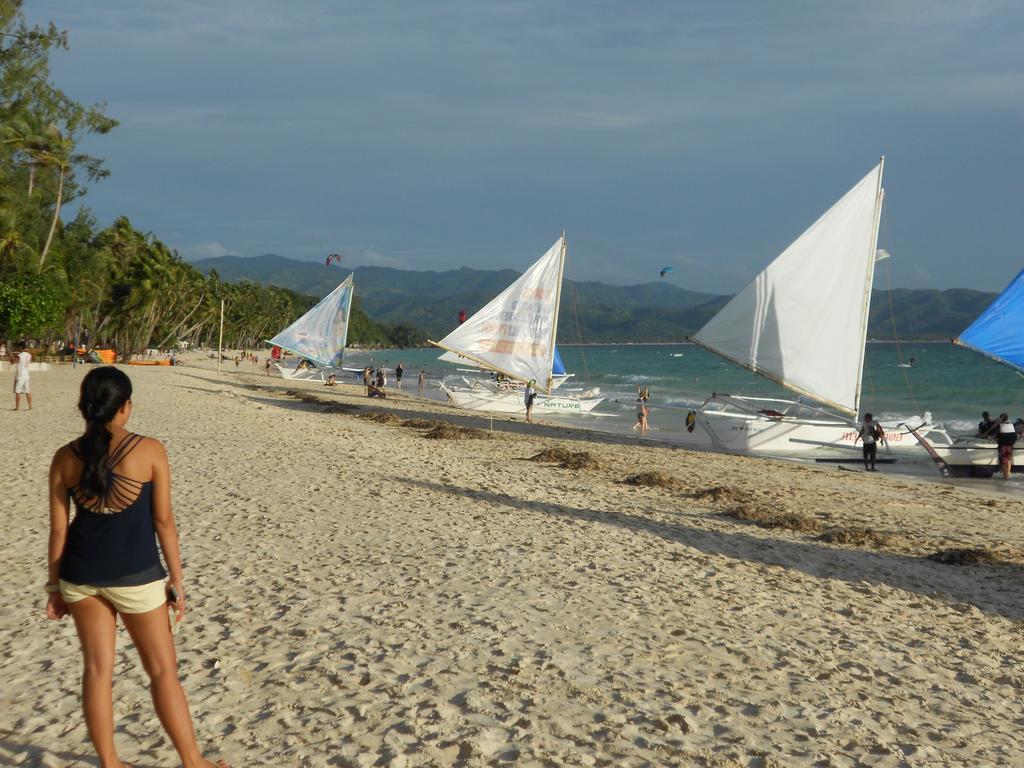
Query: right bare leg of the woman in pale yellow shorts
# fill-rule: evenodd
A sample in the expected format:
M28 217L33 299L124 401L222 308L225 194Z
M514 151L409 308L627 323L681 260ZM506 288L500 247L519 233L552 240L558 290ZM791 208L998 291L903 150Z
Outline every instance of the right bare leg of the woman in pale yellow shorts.
M196 743L188 702L178 680L178 662L167 607L162 605L145 613L122 613L121 620L138 648L142 667L150 676L150 692L157 717L177 750L183 768L213 766L203 759Z

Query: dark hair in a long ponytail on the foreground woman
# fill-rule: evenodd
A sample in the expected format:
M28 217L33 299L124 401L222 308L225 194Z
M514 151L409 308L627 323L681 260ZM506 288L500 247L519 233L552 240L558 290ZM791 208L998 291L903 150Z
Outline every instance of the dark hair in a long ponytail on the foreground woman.
M82 379L78 410L85 419L85 434L78 439L78 454L85 464L79 480L85 496L106 496L106 454L112 436L106 425L130 399L131 379L113 366L95 368Z

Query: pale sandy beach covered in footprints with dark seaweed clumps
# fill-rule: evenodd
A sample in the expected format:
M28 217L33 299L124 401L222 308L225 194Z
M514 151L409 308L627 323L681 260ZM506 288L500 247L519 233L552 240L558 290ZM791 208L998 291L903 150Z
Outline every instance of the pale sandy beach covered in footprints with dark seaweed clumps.
M129 428L170 454L180 670L211 756L1024 765L1024 502L997 480L492 431L411 396L211 366L125 369ZM41 589L46 471L80 432L82 375L34 375L31 413L4 379L2 765L97 764L74 628L46 621ZM434 422L481 431L432 439ZM583 468L530 461L558 449ZM642 472L659 484L624 482ZM997 562L929 559L950 549ZM175 764L124 632L115 711L124 760Z

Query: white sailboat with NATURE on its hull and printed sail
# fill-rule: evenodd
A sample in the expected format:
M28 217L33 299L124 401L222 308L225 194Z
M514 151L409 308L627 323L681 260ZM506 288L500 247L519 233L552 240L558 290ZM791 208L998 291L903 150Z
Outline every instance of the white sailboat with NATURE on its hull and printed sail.
M565 234L555 241L532 266L482 309L440 341L440 359L472 365L493 372L495 380L449 381L441 389L449 401L469 411L523 414L521 384L536 382L536 412L582 414L593 411L602 397L553 394L556 381L555 339L565 268ZM561 376L564 376L564 368ZM595 393L590 393L595 394Z

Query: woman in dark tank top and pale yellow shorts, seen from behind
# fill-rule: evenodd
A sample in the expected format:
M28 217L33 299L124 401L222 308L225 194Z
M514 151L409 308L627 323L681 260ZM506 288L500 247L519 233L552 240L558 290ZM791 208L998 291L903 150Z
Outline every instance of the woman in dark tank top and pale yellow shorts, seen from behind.
M150 691L184 768L214 768L203 758L178 681L168 602L185 612L178 535L171 512L163 444L125 429L131 381L113 367L82 380L78 409L85 433L50 465L49 593L46 614L71 613L82 646L82 709L101 768L124 768L114 745L114 647L118 614L150 677ZM71 505L75 518L69 524ZM170 582L160 562L164 553ZM220 761L216 764L226 768Z

